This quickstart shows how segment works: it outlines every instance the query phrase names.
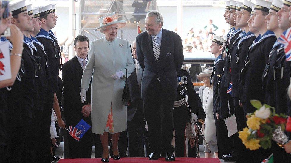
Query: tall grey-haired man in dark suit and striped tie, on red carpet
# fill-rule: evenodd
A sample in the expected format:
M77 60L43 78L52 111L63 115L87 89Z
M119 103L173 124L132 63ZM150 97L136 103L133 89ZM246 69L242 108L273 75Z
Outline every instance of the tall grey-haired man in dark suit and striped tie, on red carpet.
M181 37L162 29L163 17L153 10L146 16L146 30L136 38L137 59L143 69L141 97L146 107L149 143L157 160L165 153L166 161L174 161L173 113L177 96L177 72L184 61Z

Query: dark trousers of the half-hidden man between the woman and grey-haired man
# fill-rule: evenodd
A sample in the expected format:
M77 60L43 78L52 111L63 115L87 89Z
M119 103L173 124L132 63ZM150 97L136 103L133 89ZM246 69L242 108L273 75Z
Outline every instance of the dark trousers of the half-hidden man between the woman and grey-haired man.
M148 156L150 149L148 148L148 131L144 118L135 113L132 120L127 121L127 127L129 157L144 157L144 142L146 144L146 155Z

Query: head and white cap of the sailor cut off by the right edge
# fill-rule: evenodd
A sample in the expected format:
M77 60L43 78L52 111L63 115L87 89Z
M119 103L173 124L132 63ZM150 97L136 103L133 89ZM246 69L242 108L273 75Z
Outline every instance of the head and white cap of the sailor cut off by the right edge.
M288 22L288 20L291 20L290 15L289 15L290 5L291 5L291 0L289 1L284 0L282 2L282 5L279 7L281 9L277 12L279 27L283 29L284 31L290 27L290 21Z

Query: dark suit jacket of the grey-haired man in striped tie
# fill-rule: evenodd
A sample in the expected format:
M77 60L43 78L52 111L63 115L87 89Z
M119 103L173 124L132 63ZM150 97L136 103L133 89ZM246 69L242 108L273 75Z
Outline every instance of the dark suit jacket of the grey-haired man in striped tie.
M143 32L136 38L137 59L143 71L141 97L148 99L155 91L155 82L159 77L168 100L175 100L177 95L177 72L183 61L181 37L175 32L162 29L162 42L158 61L154 56L152 37Z

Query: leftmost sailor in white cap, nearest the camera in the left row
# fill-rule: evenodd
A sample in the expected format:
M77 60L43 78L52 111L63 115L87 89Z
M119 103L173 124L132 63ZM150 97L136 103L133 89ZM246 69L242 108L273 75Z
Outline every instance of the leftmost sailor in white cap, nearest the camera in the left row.
M28 16L25 0L18 1L9 5L9 11L12 12L11 22L15 24L24 34L31 29L31 21ZM24 157L24 143L28 142L28 133L32 125L32 116L34 110L38 107L37 94L37 77L39 67L35 57L35 49L32 48L28 38L24 34L22 64L18 72L18 80L11 86L11 91L7 99L11 99L8 107L13 112L8 119L11 119L9 128L10 143L8 144L6 162L26 162Z

